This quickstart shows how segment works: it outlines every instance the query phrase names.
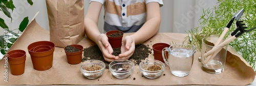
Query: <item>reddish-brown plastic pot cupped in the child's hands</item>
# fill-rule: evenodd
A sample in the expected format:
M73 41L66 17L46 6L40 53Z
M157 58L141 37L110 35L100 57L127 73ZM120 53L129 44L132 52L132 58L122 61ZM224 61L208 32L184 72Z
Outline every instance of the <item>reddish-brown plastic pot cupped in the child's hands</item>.
M118 47L121 47L122 45L122 38L123 38L123 32L122 33L122 36L119 36L119 37L110 37L111 34L113 33L119 33L121 31L109 31L109 32L106 32L106 36L109 38L109 42L110 42L110 45L112 46L112 48L118 48Z

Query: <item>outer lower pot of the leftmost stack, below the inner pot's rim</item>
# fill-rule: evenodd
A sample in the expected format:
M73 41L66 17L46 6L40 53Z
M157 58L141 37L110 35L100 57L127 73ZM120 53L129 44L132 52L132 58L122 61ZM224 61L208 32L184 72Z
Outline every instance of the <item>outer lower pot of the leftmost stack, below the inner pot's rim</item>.
M21 61L10 61L8 63L10 65L11 74L12 75L22 75L25 72L25 61L26 58Z

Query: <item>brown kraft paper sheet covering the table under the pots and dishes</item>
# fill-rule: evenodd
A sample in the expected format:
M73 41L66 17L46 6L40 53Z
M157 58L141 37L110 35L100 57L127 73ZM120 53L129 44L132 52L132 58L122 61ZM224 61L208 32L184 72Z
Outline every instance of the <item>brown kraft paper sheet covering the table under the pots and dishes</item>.
M124 35L131 34L133 33ZM152 45L158 42L172 43L173 41L182 43L186 36L187 34L158 33L144 42L144 44L150 45L149 47L152 48ZM251 66L231 47L228 47L225 70L221 74L209 74L202 71L201 63L198 62L198 57L201 52L197 51L194 55L193 67L190 74L186 77L174 76L170 73L168 66L165 64L164 72L156 79L142 77L138 65L135 66L135 70L131 76L125 79L115 78L108 69L103 72L101 77L88 79L80 72L79 64L68 64L65 51L60 47L55 47L53 67L46 71L37 71L33 69L27 46L36 41L49 41L49 38L49 31L44 30L44 28L40 27L36 21L33 20L10 49L23 49L26 51L25 73L17 76L12 75L10 68L4 68L5 59L3 59L0 61L0 76L2 77L0 85L246 85L251 83L255 78L255 72ZM94 45L94 42L85 37L78 44L87 48ZM148 59L154 59L154 55L152 54L149 55ZM3 78L5 69L8 69L8 82L4 81Z

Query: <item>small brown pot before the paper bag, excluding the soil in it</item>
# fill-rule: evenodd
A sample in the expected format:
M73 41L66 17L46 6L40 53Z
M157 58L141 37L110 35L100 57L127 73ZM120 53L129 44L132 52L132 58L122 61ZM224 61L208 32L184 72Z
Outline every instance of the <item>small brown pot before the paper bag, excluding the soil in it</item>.
M78 48L80 50L77 51L77 52L68 52L68 51L66 51L67 46L64 48L65 53L67 55L68 63L71 64L71 65L81 63L83 47L81 45L78 45L78 44L73 44L73 45L70 45L70 46Z

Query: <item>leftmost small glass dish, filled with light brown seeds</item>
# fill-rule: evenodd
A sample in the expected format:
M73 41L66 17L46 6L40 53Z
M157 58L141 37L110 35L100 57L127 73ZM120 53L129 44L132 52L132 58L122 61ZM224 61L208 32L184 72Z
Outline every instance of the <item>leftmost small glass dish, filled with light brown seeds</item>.
M89 79L95 79L102 75L105 64L99 60L88 60L80 63L80 71Z

